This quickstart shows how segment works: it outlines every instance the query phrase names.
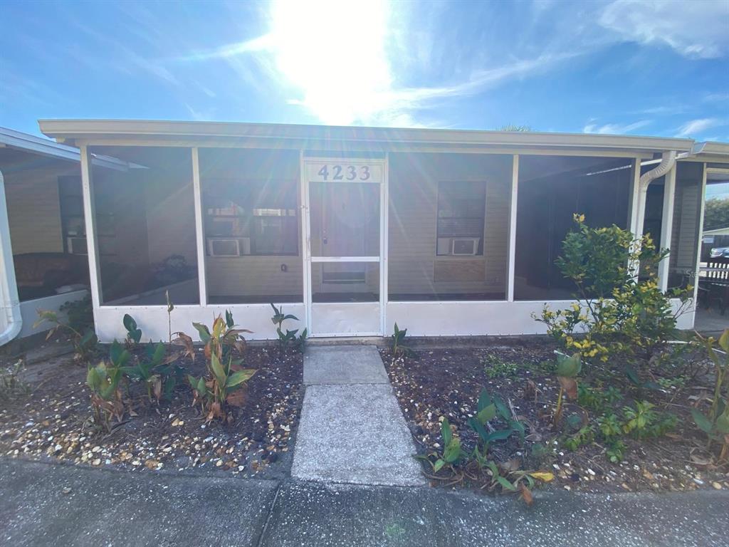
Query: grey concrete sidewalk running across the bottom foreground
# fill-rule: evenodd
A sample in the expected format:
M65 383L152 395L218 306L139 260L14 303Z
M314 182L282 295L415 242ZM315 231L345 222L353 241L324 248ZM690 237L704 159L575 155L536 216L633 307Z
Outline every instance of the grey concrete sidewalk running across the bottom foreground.
M515 497L0 459L0 544L714 547L729 492Z

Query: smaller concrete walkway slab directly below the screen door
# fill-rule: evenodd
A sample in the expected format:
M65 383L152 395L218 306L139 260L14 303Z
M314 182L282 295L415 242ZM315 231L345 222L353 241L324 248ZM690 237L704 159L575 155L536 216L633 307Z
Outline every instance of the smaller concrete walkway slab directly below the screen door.
M389 384L375 346L308 346L304 384Z

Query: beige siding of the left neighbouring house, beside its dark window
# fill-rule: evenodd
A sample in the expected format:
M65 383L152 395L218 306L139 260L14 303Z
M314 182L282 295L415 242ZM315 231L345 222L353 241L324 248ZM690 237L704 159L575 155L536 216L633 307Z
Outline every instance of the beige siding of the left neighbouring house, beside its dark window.
M3 174L13 254L63 252L58 176L79 175L79 165L55 161Z

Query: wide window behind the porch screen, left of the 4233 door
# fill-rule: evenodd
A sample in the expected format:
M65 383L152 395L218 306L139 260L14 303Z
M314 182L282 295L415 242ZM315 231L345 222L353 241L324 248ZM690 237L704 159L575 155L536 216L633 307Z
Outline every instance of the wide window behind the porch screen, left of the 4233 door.
M230 251L233 241L238 242L238 255L298 254L295 182L211 180L207 184L208 255L216 255L212 250L216 247Z

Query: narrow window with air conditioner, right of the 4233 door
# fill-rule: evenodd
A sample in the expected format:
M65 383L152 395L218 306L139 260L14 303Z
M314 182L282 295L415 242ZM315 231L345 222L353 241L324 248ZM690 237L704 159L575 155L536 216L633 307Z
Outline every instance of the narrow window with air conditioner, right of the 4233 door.
M485 182L438 185L437 255L483 255Z

